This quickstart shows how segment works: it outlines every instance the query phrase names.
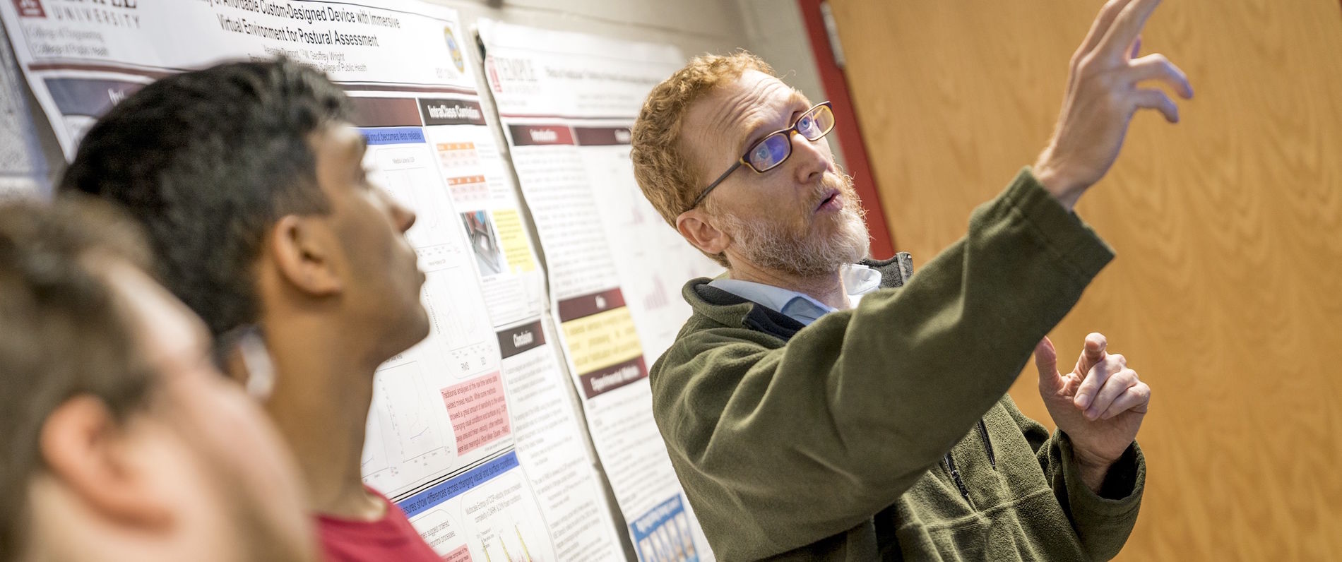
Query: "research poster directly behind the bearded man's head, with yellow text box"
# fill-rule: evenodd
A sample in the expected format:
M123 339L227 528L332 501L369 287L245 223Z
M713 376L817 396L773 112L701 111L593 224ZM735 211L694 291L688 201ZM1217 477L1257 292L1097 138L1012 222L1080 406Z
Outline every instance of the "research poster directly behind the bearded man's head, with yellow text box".
M711 559L651 412L648 368L690 317L680 284L722 270L639 192L629 129L684 58L666 46L479 21L484 74L545 248L586 424L639 558Z

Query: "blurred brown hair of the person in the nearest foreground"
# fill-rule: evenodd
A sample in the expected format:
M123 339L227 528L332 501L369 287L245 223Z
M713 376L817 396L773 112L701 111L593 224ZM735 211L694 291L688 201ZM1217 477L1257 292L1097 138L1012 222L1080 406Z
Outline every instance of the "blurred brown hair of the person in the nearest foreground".
M152 388L122 306L87 266L91 254L141 268L149 255L134 224L106 204L0 205L0 561L24 549L47 416L87 394L125 418Z

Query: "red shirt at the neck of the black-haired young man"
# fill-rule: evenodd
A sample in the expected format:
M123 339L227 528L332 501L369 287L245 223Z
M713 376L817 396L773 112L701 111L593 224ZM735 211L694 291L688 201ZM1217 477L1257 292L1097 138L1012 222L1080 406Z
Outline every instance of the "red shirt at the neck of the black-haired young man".
M329 562L442 562L415 527L411 527L411 520L400 507L376 490L368 491L386 502L386 515L382 519L362 522L317 516L322 553Z

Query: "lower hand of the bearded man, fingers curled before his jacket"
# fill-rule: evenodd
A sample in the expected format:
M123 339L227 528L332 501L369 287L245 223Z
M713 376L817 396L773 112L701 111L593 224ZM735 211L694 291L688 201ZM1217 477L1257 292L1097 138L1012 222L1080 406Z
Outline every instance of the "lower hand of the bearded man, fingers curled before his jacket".
M1096 492L1108 467L1137 439L1151 400L1151 388L1106 346L1103 334L1087 335L1076 366L1066 376L1057 372L1053 342L1044 338L1035 347L1039 393L1053 424L1071 439L1082 479Z

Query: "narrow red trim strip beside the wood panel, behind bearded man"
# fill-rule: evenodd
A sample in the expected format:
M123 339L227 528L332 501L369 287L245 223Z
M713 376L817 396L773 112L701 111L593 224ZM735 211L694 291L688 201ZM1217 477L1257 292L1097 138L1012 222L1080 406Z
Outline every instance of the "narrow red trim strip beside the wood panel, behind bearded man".
M833 54L829 52L829 38L820 15L820 1L797 0L797 7L801 8L801 19L807 24L811 54L816 58L820 82L833 105L835 133L839 134L839 142L843 144L844 161L848 164L847 172L852 176L858 196L862 197L862 207L867 209L871 255L878 259L890 258L895 255L894 235L890 232L886 213L880 208L880 192L876 189L876 178L871 174L867 146L862 142L862 129L858 125L858 114L854 113L852 99L848 97L848 79L844 76L843 68L835 64Z

